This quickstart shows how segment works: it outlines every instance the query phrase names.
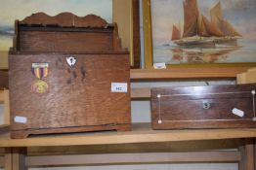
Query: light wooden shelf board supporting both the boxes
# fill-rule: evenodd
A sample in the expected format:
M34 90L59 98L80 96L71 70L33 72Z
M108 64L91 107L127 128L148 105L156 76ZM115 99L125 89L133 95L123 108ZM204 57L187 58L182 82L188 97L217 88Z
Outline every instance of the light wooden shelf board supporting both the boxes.
M133 124L129 132L92 132L60 135L38 135L26 139L10 139L10 134L0 135L0 147L44 147L106 144L136 144L192 140L255 138L256 128L151 130L149 123Z

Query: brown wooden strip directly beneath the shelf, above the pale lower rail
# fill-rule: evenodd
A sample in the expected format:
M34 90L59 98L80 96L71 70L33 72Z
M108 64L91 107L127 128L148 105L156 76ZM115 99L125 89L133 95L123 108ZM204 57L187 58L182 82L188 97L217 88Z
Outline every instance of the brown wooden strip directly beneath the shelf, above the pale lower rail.
M240 139L177 141L161 143L113 144L97 146L31 147L28 155L90 154L90 153L177 153L228 150L238 148ZM1 153L1 152L0 152Z

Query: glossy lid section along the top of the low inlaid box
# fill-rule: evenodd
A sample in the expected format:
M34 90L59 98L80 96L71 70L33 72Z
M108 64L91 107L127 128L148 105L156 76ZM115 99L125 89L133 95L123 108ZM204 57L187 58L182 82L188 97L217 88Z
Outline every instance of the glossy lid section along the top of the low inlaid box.
M256 84L250 85L205 85L186 87L151 88L151 100L195 100L214 98L248 98Z

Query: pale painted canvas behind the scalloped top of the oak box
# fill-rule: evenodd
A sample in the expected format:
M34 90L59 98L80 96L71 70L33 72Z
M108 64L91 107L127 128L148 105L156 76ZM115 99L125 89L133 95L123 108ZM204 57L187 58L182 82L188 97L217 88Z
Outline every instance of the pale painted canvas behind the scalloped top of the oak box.
M0 57L13 45L14 23L34 13L56 16L63 12L84 17L95 14L112 22L112 0L1 0Z

